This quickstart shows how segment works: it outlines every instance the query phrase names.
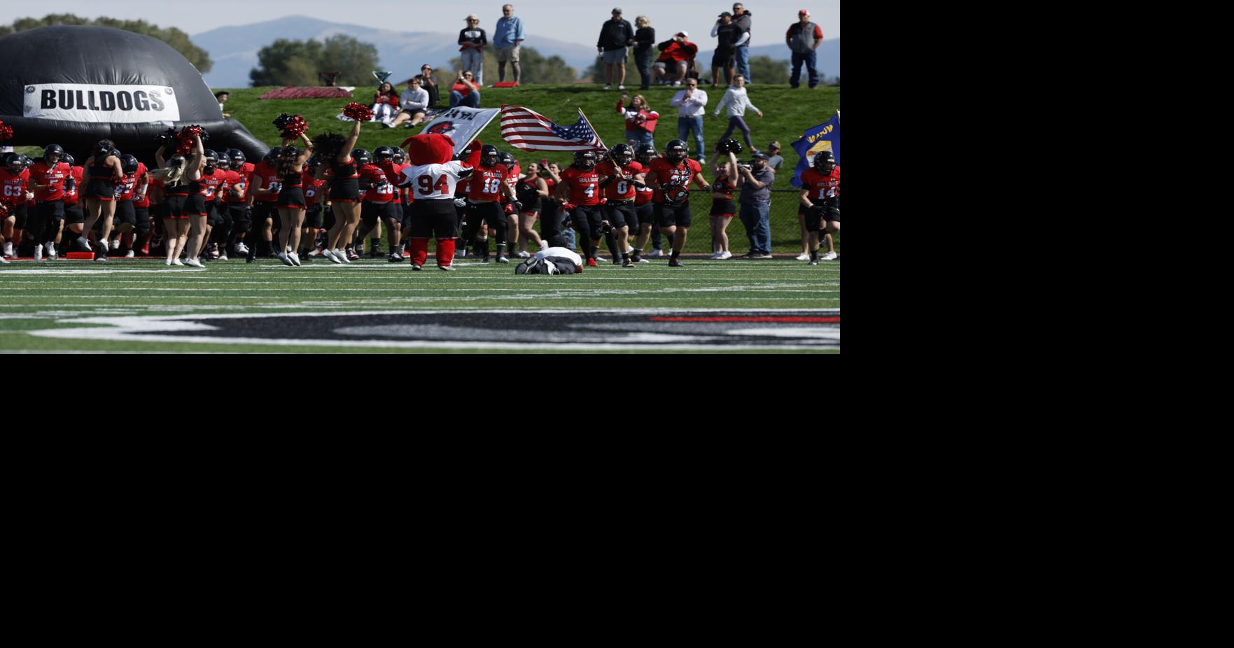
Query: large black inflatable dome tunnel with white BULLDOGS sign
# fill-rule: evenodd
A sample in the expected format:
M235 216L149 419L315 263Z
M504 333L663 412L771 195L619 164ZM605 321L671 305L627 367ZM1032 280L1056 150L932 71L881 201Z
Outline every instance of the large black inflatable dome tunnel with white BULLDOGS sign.
M260 159L269 147L225 118L201 73L170 46L110 27L39 27L0 38L9 146L60 144L79 162L102 138L153 164L157 135L200 125L206 148Z

